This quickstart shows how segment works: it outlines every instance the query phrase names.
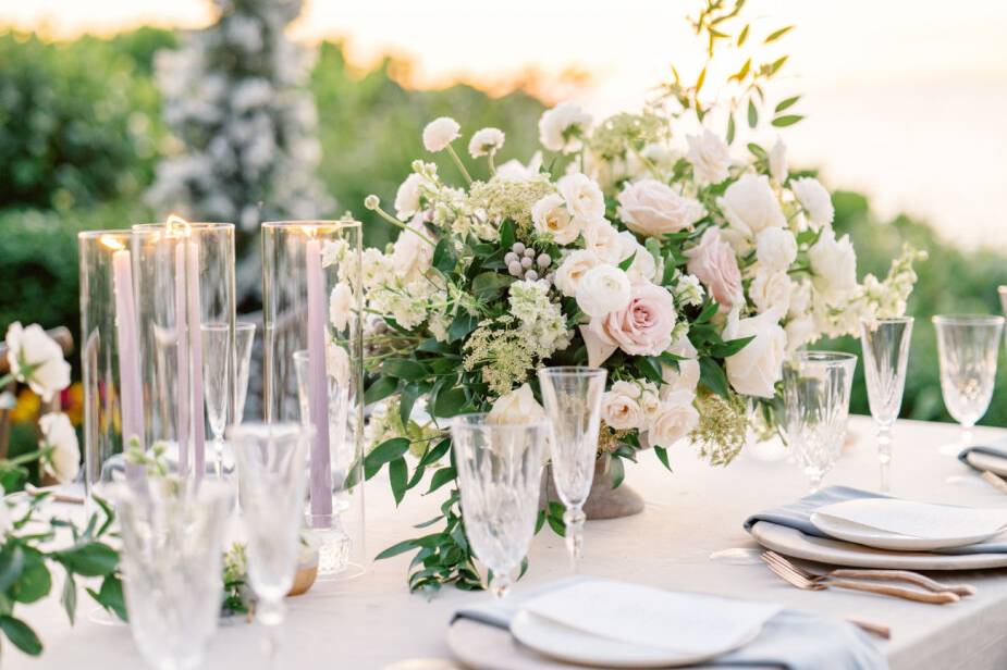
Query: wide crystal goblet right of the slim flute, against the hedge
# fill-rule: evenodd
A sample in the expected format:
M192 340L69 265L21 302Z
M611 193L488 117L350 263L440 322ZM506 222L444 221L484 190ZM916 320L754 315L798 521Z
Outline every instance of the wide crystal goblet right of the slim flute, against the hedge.
M933 322L944 406L961 424L961 444L944 445L941 452L954 456L972 444L972 427L990 407L1004 318L941 314Z

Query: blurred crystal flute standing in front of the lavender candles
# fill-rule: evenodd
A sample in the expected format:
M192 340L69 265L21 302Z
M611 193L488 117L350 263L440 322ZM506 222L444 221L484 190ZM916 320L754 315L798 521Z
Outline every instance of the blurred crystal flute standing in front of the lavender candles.
M247 423L228 430L241 480L248 542L248 581L256 619L267 628L269 656L279 653L283 596L294 583L310 431L297 423Z

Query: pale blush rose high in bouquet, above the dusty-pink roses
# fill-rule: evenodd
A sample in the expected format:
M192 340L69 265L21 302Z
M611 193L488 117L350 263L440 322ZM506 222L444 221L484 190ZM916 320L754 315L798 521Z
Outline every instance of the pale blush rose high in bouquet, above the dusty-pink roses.
M656 179L628 184L618 195L618 215L630 231L648 237L678 233L703 218L698 200L679 196Z

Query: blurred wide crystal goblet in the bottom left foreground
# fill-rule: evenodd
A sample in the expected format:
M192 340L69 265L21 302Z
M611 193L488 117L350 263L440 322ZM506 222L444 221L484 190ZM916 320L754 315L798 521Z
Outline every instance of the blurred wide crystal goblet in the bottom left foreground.
M217 631L224 531L232 491L121 485L123 591L140 654L158 670L198 668Z

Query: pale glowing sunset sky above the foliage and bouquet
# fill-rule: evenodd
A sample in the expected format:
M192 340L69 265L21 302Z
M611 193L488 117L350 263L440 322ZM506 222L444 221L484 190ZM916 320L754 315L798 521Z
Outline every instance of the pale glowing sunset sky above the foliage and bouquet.
M345 38L353 62L414 61L413 83L491 86L533 67L590 75L577 98L597 115L633 109L700 67L684 21L698 2L309 0L293 37ZM948 239L1007 247L1007 2L750 0L757 28L796 24L778 96L803 92L808 121L783 138L833 188L865 190L884 214L906 210ZM205 0L32 0L0 4L0 26L52 37L144 24L200 27ZM688 76L688 75L686 75ZM775 133L763 133L772 138Z

